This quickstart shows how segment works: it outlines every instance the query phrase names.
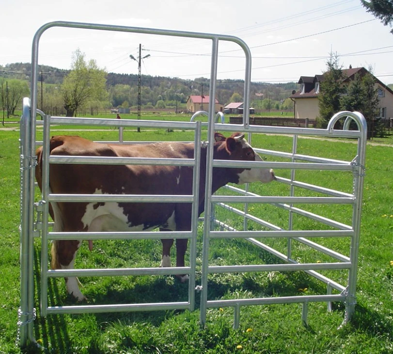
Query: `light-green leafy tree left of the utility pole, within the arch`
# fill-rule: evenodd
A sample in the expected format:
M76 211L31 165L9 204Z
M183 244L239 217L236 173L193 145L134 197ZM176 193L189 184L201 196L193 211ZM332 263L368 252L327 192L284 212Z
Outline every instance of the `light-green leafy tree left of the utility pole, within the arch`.
M86 64L85 55L79 49L73 53L71 71L61 87L67 117L76 116L78 108L88 101L103 99L106 95L106 74L97 67L95 60Z

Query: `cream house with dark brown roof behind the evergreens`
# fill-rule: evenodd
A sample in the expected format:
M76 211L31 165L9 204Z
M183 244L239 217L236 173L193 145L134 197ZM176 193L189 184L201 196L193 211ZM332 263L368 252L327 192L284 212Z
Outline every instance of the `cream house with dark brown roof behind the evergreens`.
M345 77L343 85L347 85L355 78L356 74L363 76L368 73L368 70L364 67L349 67L343 69L343 73ZM295 118L316 118L319 116L318 94L323 77L323 75L300 76L298 82L300 89L290 96L295 101ZM393 118L393 90L376 77L374 79L378 89L379 117L382 119Z

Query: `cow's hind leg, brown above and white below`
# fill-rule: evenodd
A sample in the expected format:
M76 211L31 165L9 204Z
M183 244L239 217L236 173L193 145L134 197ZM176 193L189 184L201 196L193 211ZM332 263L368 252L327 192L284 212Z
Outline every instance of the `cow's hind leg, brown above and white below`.
M51 268L74 269L74 261L80 244L81 241L77 240L54 240L51 249ZM65 277L64 280L68 294L74 296L78 301L86 299L79 290L79 281L77 277Z

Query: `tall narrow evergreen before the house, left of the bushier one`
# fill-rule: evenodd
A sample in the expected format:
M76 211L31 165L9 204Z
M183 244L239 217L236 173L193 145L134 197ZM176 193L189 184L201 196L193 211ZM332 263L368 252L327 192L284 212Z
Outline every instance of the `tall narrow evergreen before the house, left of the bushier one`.
M344 73L339 65L337 54L330 52L329 61L326 63L327 71L323 75L320 93L318 95L319 115L324 122L340 111L340 97L344 93L342 82Z

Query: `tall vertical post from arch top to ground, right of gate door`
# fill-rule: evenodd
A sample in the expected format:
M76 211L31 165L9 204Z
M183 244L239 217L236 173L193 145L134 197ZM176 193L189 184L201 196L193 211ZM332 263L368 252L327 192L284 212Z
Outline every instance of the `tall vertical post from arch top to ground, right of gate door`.
M207 275L208 275L208 256L209 256L209 236L210 227L206 227L210 223L213 179L213 151L214 151L214 108L216 95L216 78L217 78L217 62L218 62L218 38L212 40L212 59L210 71L210 102L209 102L209 122L208 122L208 141L209 145L206 152L206 186L204 198L204 239L202 249L202 280L201 280L201 325L206 323L206 307L207 307Z

